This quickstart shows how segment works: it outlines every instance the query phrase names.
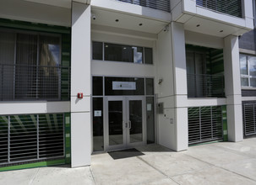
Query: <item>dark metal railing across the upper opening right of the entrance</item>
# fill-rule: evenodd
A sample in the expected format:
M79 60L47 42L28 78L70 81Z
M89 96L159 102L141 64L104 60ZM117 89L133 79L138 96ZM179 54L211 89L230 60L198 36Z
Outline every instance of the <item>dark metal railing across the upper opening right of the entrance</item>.
M225 97L223 75L188 74L188 98Z

